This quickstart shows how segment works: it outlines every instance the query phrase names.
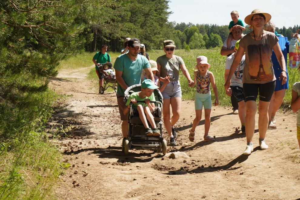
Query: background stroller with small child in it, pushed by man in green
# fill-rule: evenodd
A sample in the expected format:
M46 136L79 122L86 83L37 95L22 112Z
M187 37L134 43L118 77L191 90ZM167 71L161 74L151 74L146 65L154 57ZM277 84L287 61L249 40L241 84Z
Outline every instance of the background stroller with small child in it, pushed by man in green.
M104 91L107 88L113 88L115 90L115 93L117 94L117 80L116 80L116 76L115 76L115 71L114 68L112 67L112 63L111 62L106 62L104 64L101 64L99 66L99 70L100 72L102 72L104 74L104 82L103 82L103 86L100 87L100 94L104 94ZM110 83L112 83L112 85L110 85Z

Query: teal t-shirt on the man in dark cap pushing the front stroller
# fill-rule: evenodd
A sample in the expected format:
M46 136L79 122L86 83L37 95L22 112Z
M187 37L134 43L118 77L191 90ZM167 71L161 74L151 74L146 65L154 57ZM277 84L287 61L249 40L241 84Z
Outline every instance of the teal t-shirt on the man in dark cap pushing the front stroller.
M123 72L122 78L130 87L135 84L141 84L142 69L151 67L145 56L137 55L135 61L129 59L127 53L119 55L115 61L115 70ZM118 84L117 94L124 96L125 89Z

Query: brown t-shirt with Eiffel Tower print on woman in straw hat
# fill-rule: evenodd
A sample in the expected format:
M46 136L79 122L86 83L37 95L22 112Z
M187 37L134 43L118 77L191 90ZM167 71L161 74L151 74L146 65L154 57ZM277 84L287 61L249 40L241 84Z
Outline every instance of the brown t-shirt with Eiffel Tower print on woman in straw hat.
M252 39L250 33L241 39L239 45L246 52L243 83L268 83L276 80L271 55L277 42L278 38L271 32L266 32L262 40Z

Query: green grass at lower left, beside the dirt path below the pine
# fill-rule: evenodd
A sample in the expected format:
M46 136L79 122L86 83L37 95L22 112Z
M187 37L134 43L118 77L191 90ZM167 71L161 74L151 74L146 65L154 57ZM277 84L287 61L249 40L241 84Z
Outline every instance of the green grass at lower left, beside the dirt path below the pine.
M53 199L61 154L45 133L56 95L31 95L33 106L0 103L0 199Z

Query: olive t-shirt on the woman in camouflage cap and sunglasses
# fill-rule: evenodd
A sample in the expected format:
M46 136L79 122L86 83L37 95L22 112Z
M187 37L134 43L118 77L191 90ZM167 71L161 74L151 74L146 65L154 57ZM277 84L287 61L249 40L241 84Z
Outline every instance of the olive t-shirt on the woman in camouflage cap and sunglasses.
M156 60L157 64L160 65L160 76L169 76L171 82L179 80L180 65L184 64L181 57L177 55L173 55L173 57L169 59L166 55L162 55Z

